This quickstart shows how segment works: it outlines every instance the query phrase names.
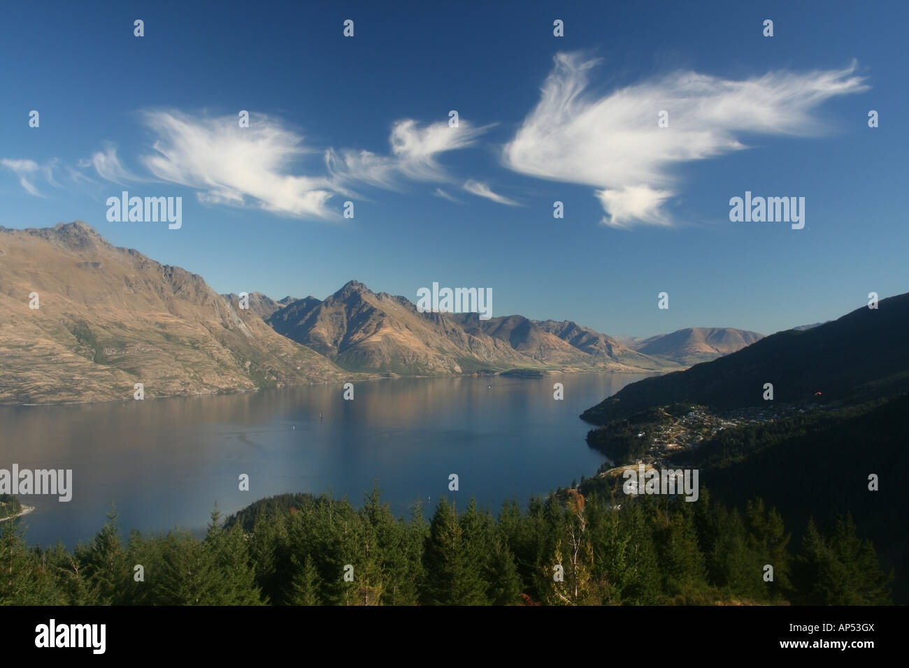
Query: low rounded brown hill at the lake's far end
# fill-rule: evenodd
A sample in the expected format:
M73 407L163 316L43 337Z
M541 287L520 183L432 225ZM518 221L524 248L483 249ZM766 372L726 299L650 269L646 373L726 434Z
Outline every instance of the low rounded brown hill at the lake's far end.
M639 353L663 357L678 364L708 362L734 353L764 338L764 334L730 327L689 327L635 342Z

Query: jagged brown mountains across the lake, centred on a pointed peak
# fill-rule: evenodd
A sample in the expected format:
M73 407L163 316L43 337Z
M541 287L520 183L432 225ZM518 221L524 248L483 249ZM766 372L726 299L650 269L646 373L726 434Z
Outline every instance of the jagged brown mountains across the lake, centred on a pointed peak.
M637 353L568 321L522 315L420 313L402 296L351 281L324 302L307 297L275 311L275 331L345 369L395 374L462 374L511 369L664 371L678 364Z

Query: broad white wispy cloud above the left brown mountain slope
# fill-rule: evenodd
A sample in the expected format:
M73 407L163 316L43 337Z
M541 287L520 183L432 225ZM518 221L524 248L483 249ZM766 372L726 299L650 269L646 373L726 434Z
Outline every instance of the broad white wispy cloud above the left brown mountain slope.
M274 118L256 115L243 128L236 116L153 111L144 118L157 135L157 155L144 156L143 164L163 181L199 189L200 201L257 205L300 218L338 217L326 207L333 193L325 177L293 174L294 163L312 150Z

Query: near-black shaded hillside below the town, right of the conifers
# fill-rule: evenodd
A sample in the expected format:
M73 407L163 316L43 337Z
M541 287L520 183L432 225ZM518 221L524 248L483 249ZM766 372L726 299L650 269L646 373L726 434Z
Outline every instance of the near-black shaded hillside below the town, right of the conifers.
M809 518L832 523L851 513L859 535L874 540L882 562L894 568L894 600L909 600L909 395L779 423L718 434L674 457L701 469L701 484L738 507L755 496L779 508L801 539ZM878 491L868 489L877 474Z

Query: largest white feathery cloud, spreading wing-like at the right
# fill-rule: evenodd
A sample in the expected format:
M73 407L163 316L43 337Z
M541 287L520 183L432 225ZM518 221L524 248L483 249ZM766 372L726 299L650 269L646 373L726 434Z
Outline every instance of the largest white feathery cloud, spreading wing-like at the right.
M737 135L817 135L810 114L834 95L867 88L856 65L804 74L768 73L733 81L694 72L584 95L595 60L555 56L539 103L504 147L514 171L591 185L604 223L671 224L663 204L674 191L675 165L744 148ZM657 125L658 112L669 126Z

